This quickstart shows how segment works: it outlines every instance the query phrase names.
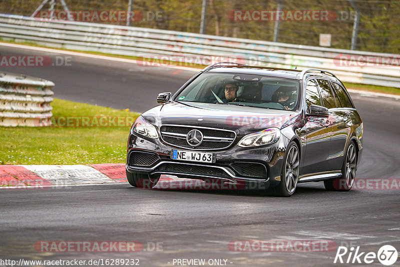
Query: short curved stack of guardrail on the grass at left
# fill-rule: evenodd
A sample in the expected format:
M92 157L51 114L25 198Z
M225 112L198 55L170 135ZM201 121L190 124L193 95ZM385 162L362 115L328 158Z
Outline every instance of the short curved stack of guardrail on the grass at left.
M0 126L48 126L54 83L0 72Z

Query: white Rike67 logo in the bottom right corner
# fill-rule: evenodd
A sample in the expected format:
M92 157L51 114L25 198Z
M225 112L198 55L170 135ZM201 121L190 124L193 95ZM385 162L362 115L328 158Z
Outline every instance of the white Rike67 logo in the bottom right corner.
M383 265L389 266L397 260L397 250L392 245L383 245L378 252L361 252L359 246L351 246L349 249L345 246L339 246L336 251L333 263L362 263L370 264L379 260Z

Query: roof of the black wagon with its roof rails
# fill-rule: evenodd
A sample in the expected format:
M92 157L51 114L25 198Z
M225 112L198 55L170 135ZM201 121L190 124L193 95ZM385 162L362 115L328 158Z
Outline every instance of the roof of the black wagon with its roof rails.
M281 78L291 78L291 79L306 79L309 76L328 78L334 81L340 82L336 76L328 71L321 69L307 69L309 72L302 72L299 69L289 69L289 68L276 68L276 67L264 67L264 66L250 66L250 65L218 65L204 69L204 72L228 72L228 73L246 73L246 74L256 74L256 75L266 75ZM319 72L314 72L319 71ZM326 74L330 73L330 74ZM303 75L301 75L303 73ZM341 83L341 82L340 82Z

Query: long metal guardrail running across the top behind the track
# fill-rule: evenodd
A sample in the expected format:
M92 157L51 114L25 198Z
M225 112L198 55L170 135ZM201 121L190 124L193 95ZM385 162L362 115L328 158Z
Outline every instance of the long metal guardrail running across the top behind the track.
M237 56L243 58L240 62L282 68L322 68L333 71L343 81L400 87L400 55L397 54L101 23L38 21L9 14L0 14L0 37L51 47L133 56ZM367 63L367 56L378 57L387 64Z

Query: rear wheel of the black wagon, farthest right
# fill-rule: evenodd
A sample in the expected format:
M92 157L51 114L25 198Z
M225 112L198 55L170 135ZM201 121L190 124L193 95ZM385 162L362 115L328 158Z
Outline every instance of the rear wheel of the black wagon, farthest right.
M357 166L357 149L355 143L351 141L346 147L343 164L341 166L341 177L324 180L323 185L329 191L349 191L351 190Z

